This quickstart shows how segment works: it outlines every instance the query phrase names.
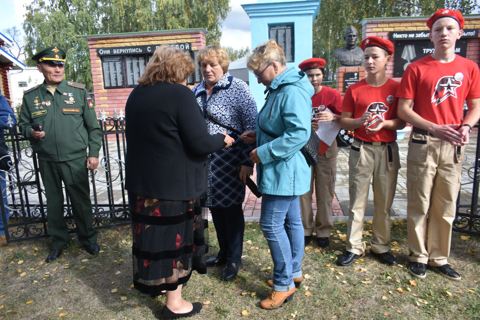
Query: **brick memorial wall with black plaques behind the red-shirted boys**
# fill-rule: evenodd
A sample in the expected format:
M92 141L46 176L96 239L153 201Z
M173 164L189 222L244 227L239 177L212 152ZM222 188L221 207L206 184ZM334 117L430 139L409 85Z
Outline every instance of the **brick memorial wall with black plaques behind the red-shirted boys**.
M428 18L430 16L367 18L360 22L362 38L379 36L392 41L395 46L392 61L387 65L387 77L400 81L402 69L408 62L432 53L433 43L428 38L430 31L426 24ZM465 34L457 40L456 53L478 64L480 63L480 15L466 14L464 18ZM413 59L402 57L413 57Z

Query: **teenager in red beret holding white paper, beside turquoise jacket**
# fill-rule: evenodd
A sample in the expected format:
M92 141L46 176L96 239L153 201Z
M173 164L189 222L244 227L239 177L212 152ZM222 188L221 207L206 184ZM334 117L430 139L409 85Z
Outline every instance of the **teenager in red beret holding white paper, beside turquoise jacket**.
M325 63L324 59L312 58L299 64L300 70L307 74L315 90L315 94L312 96L312 129L318 130L317 122L320 122L328 123L326 125L329 126L329 128L323 127L322 130L336 131L331 135L334 139L330 145L320 141L317 165L312 166L310 191L300 196L300 213L305 232L305 246L307 246L313 233L312 194L313 181L315 181L315 198L317 200L315 232L317 245L322 248L328 246L328 237L333 229L332 200L336 180L336 156L338 155L335 136L340 130L340 116L342 115L342 95L335 89L322 85Z

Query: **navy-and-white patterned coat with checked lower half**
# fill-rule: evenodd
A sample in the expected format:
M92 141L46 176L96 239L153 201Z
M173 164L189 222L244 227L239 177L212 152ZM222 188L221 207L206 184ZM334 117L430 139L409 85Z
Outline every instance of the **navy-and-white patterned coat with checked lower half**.
M257 105L247 83L234 78L228 72L216 83L212 95L207 98L205 80L193 89L198 105L203 110L203 99L208 113L216 121L240 132L255 130ZM205 112L204 116L206 118ZM236 133L206 119L210 134L227 131L236 139L228 149L221 149L209 155L209 175L206 205L230 207L245 199L245 184L240 180L237 168L240 165L253 166L250 152L255 145L241 140Z

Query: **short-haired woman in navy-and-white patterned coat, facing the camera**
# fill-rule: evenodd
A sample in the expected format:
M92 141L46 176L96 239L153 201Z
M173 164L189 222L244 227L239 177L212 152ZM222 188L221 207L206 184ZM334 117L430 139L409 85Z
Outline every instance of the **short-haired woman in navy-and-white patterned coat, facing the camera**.
M229 281L242 267L245 230L242 203L246 179L253 174L249 154L254 146L242 141L235 131L255 129L257 105L247 83L228 73L230 60L225 49L215 45L205 47L198 51L197 60L204 80L193 88L193 93L203 109L208 131L210 134L227 131L236 139L229 149L209 155L206 203L212 213L220 248L206 264L215 266L225 263L222 277L224 281Z

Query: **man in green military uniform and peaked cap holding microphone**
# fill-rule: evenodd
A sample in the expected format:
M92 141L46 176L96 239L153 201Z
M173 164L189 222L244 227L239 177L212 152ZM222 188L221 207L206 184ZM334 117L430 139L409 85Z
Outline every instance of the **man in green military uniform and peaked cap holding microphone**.
M48 232L52 238L47 262L57 259L69 241L62 181L72 203L78 240L88 253L99 251L88 169L98 166L101 131L85 85L63 80L65 56L60 47L47 47L32 57L45 81L24 92L19 121L22 134L30 139L37 154L47 195Z

